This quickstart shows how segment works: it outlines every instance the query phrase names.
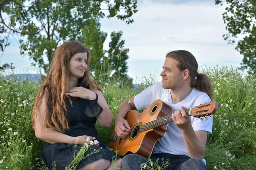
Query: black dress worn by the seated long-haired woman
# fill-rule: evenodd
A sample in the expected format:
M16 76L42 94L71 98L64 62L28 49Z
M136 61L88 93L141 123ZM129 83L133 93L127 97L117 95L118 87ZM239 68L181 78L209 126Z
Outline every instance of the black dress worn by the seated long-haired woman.
M93 136L100 142L98 132L95 128L95 123L96 116L99 116L103 109L97 102L98 96L95 100L72 97L71 99L73 101L73 106L70 105L68 100L66 101L67 120L69 122L70 129L66 130L64 134L73 137L82 135ZM82 144L77 144L76 153L79 152L81 147ZM107 144L102 143L99 143L99 146L90 146L84 153L84 156L92 153L94 149L99 150L99 152L93 153L85 159L82 159L76 168L84 167L85 164L91 163L92 161L96 161L101 158L108 160L112 159L113 156L116 156L116 154L110 150ZM65 167L68 167L73 161L74 152L75 144L49 144L44 142L43 150L38 154L38 157L44 160L45 164L47 167L49 167L50 170L52 169L54 161L57 166L57 170L64 170Z

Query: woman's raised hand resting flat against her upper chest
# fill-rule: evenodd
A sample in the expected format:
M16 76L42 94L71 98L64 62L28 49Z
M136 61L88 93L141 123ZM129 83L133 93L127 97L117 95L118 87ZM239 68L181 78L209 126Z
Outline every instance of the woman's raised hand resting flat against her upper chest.
M66 94L72 97L80 97L82 99L96 99L96 94L93 91L83 87L71 88L70 91Z

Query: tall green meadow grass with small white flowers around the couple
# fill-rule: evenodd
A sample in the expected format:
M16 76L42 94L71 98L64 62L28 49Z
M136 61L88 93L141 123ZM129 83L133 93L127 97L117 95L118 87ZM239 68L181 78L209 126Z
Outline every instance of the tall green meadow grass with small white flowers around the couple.
M243 77L234 68L201 68L200 72L212 80L214 99L219 105L213 116L213 132L208 135L204 156L208 169L256 169L256 78ZM139 88L125 87L118 80L101 84L113 117L123 100L135 96L155 81L153 78L144 79ZM29 79L20 81L14 76L0 76L2 170L35 169L35 159L41 150L42 141L35 138L30 116L39 87L39 82ZM111 127L96 124L102 139L100 142L108 142L113 128L114 123Z

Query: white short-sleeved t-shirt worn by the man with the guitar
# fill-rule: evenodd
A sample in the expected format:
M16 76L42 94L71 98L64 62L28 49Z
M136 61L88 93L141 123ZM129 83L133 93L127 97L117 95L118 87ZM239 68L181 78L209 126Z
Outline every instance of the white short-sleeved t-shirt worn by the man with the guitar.
M143 110L148 108L148 106L157 99L161 99L163 102L172 106L174 112L177 110L182 111L182 105L186 108L194 108L195 106L211 102L211 99L206 93L193 88L186 99L177 104L173 104L171 89L164 89L162 87L162 82L159 82L154 83L140 94L137 94L134 98L134 104L138 110ZM200 118L195 118L193 116L190 116L190 118L194 131L205 130L208 134L212 133L212 119L204 119L201 121ZM177 127L174 122L169 123L165 137L156 142L153 153L171 153L174 155L186 155L191 157L186 149L180 128Z

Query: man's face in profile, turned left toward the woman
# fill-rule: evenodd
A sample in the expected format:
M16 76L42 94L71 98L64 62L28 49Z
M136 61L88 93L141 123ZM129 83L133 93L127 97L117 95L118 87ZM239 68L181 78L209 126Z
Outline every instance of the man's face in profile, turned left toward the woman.
M166 57L163 65L163 71L160 74L162 76L162 87L165 89L177 89L182 87L183 73L177 67L178 61L171 57Z

